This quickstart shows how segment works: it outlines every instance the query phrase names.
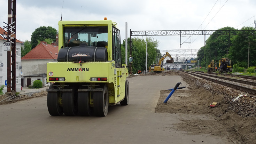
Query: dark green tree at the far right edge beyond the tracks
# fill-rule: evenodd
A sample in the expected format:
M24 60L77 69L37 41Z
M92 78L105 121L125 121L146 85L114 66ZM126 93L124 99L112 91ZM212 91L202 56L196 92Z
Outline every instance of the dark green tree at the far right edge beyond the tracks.
M247 68L248 64L248 48L249 51L249 66L256 66L256 32L253 27L242 27L241 30L251 30L250 33L238 32L232 39L232 46L230 47L230 54L228 56L233 64L237 63L239 67ZM250 35L249 35L250 34ZM254 34L254 35L251 35Z

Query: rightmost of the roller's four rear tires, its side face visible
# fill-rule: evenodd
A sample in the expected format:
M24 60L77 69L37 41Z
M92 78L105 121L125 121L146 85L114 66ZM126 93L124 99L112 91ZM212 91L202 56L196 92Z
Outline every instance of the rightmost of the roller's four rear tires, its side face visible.
M93 110L99 117L105 117L108 114L108 87L104 85L103 91L93 92Z

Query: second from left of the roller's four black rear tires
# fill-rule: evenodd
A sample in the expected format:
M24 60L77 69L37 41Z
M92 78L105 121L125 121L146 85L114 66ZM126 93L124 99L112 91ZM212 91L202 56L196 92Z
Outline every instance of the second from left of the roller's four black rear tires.
M72 92L64 91L62 93L62 105L64 114L67 116L75 116L78 113L77 93L76 89L72 88Z

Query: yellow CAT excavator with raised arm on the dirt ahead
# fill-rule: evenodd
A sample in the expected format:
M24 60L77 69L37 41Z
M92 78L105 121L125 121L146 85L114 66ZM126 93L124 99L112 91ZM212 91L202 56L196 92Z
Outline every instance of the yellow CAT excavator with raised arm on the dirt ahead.
M173 58L171 57L171 55L168 52L165 52L165 55L159 60L158 64L155 65L150 65L149 66L149 72L153 71L153 72L162 72L164 71L164 68L162 67L162 62L164 60L165 57L170 57L171 59L167 59L166 62L167 63L174 63Z

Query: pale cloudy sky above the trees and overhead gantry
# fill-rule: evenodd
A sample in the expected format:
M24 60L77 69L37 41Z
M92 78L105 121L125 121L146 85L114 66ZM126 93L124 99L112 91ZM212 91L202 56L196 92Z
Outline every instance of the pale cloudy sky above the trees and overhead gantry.
M8 0L0 0L1 27L7 23ZM93 21L107 17L116 22L125 39L132 31L154 30L218 30L230 26L241 29L255 27L255 0L17 0L16 39L31 40L32 32L40 26L58 30L58 22ZM130 37L130 35L128 35ZM135 36L134 36L135 37ZM151 36L158 40L158 49L200 49L204 36ZM206 39L209 36L206 37ZM139 38L146 38L140 36Z

